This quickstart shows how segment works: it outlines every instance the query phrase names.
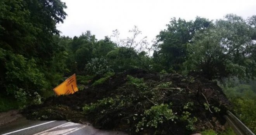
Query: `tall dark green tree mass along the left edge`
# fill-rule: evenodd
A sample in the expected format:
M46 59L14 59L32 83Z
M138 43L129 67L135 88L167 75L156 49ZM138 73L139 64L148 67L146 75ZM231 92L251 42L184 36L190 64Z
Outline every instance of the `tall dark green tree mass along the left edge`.
M40 97L38 93L50 88L52 76L63 72L59 60L64 47L54 42L54 35L59 34L56 24L66 17L64 8L60 0L1 0L2 93L22 101Z

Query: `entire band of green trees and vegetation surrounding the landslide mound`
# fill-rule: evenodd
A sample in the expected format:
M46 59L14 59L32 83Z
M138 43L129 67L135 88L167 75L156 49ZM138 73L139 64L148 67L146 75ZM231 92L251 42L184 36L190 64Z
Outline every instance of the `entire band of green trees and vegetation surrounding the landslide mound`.
M0 111L40 104L74 73L86 85L102 74L143 69L218 82L256 132L256 15L172 18L151 44L136 26L126 39L118 30L104 39L90 31L61 36L64 8L61 0L0 1Z

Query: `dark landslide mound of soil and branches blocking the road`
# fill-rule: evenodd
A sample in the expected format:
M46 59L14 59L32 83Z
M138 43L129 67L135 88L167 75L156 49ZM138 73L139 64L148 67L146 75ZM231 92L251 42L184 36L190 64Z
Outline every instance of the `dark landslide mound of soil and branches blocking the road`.
M102 80L73 95L28 106L22 113L30 119L90 122L129 134L223 130L222 116L230 103L221 88L207 79L133 69Z

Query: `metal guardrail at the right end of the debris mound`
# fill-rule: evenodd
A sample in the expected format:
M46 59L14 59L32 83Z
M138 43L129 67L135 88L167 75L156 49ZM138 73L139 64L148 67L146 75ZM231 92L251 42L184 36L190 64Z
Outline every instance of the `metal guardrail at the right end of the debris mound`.
M237 135L255 135L230 111L227 111L227 115L224 115L224 118Z

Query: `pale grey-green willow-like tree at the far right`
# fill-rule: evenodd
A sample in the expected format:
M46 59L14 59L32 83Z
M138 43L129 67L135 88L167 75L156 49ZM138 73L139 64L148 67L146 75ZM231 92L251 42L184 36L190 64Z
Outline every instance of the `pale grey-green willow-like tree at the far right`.
M232 76L254 78L255 27L241 17L227 15L213 27L195 34L188 44L187 71L199 71L208 79Z

